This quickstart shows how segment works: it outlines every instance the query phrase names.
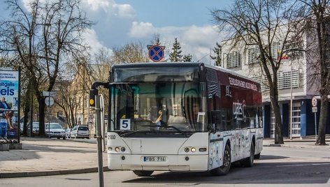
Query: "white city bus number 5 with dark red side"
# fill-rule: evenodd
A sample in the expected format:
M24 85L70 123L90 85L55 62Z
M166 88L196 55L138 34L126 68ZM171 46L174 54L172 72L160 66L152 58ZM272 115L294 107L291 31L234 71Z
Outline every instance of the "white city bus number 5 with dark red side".
M131 63L110 70L108 167L229 172L262 150L260 84L204 63Z

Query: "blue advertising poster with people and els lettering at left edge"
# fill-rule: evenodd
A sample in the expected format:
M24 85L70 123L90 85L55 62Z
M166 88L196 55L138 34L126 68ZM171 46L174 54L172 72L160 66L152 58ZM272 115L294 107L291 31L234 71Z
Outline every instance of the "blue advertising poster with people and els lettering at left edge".
M17 137L19 73L0 70L0 136Z

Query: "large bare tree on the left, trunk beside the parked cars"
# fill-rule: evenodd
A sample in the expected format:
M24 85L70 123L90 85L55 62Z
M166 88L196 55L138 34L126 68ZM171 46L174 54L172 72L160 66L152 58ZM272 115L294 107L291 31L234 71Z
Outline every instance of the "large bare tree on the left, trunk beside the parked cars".
M22 7L17 0L8 0L10 20L1 24L1 50L20 57L34 85L39 105L39 135L45 135L45 97L52 91L64 61L70 55L86 51L82 32L92 22L80 10L80 0L34 0Z

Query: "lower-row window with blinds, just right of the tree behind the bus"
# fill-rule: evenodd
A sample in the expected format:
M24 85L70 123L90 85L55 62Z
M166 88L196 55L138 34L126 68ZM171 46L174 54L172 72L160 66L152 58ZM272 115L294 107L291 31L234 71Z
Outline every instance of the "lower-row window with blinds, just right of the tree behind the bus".
M292 76L292 77L291 77ZM292 79L292 85L291 85ZM278 89L290 89L299 87L299 70L278 73Z

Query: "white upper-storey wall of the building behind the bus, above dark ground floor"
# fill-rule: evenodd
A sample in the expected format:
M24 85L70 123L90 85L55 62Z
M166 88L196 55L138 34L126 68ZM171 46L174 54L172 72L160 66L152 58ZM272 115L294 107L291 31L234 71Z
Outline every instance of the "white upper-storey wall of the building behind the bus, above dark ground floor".
M251 78L257 78L255 80L260 81L262 77L263 82L267 83L266 75L263 74L259 63L250 63L251 53L258 52L254 48L257 46L245 46L243 43L237 44L235 47L231 45L232 40L222 41L222 66L224 68L229 68L236 71L241 75L245 75ZM303 39L303 47L306 47L306 37ZM279 45L282 46L282 43ZM288 46L289 47L289 46ZM274 48L276 51L276 49ZM292 55L292 52L288 53ZM302 98L311 98L313 95L317 95L318 91L315 88L315 84L311 84L306 79L306 73L308 72L308 63L306 61L305 52L301 52L302 57L299 59L282 59L280 69L278 70L278 86L279 86L279 100L290 100L291 99L291 72L292 72L292 98L293 99L302 99ZM228 58L230 56L230 58ZM234 59L234 60L233 60ZM229 61L228 61L229 60ZM236 63L235 63L236 61ZM237 62L239 61L239 62ZM234 64L234 66L233 66ZM240 64L241 66L235 66ZM229 65L229 67L228 67ZM270 101L269 91L266 89L266 84L261 82L261 88L263 90L263 101Z

